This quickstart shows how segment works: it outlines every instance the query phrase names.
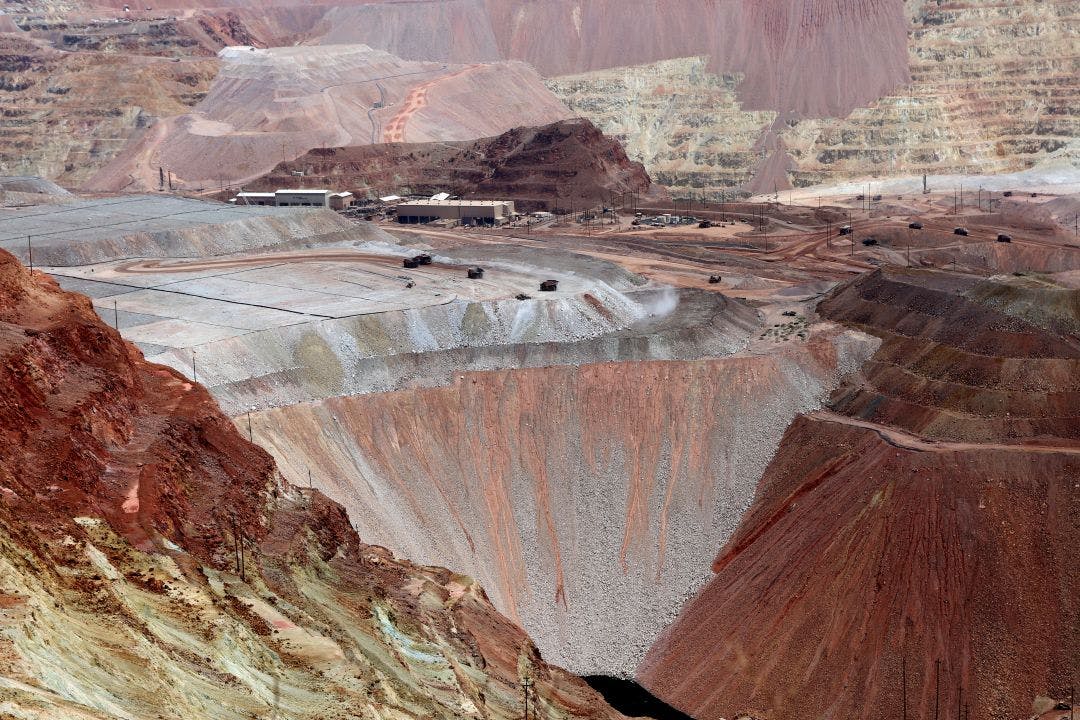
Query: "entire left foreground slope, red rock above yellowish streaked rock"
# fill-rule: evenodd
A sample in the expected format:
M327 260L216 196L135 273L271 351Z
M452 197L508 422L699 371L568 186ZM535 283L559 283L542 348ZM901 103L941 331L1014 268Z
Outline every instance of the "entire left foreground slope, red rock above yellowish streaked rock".
M615 718L472 580L360 543L211 396L0 253L14 717Z

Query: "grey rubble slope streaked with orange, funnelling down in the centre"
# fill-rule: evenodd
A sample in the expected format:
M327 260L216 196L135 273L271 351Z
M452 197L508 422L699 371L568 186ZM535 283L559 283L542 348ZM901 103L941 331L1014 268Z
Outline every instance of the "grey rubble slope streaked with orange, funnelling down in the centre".
M677 347L639 340L626 349L654 345L646 357ZM819 326L761 355L455 373L253 413L251 427L365 538L474 573L545 657L629 675L705 581L783 429L872 351Z

